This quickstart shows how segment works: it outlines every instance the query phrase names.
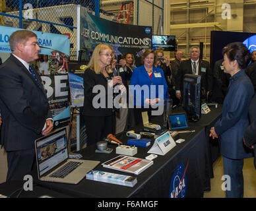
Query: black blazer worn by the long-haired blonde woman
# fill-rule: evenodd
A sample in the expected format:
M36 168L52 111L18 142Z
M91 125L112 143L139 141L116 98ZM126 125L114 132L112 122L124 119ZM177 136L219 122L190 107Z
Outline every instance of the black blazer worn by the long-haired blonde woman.
M112 76L112 75L110 75ZM92 93L92 89L96 85L102 85L104 90L106 91L104 94L105 103L103 107L94 108L92 105L92 100L96 99L96 96L100 96L98 93ZM94 98L96 97L96 98ZM92 69L86 69L84 71L84 107L83 107L83 115L88 116L110 116L113 114L113 108L108 108L108 100L110 105L113 105L113 98L108 98L108 80L107 78L100 74L96 74ZM98 101L100 104L100 102Z

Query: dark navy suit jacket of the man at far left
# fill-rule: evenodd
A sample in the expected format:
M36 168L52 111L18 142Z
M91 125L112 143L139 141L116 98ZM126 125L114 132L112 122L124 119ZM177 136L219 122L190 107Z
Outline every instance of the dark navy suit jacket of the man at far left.
M0 67L1 145L7 151L34 148L51 117L42 80L36 77L40 86L13 55Z

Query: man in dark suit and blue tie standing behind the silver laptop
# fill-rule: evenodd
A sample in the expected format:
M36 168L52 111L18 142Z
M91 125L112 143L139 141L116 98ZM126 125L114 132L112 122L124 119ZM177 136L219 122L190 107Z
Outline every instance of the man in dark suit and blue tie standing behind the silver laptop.
M53 129L42 80L29 65L40 51L36 34L18 30L9 44L12 54L0 67L0 144L7 151L7 181L23 180L32 170L34 140Z

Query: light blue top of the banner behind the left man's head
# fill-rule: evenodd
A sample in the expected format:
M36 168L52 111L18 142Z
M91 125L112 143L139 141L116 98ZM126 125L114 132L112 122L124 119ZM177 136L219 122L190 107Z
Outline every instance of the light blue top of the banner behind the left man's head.
M0 53L11 53L9 36L20 28L0 26ZM62 34L51 34L47 32L32 31L38 36L40 54L51 55L52 51L60 51L69 55L70 40L69 36Z

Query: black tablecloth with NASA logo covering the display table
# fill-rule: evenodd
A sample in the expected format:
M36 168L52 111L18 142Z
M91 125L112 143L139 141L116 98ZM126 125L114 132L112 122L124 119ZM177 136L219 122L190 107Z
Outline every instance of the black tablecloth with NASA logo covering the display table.
M183 196L203 197L203 192L210 190L210 177L213 177L213 161L211 145L208 138L208 128L218 119L222 108L210 107L210 109L210 113L202 115L200 121L189 123L190 129L194 129L195 133L183 133L179 135L180 138L185 138L185 142L177 144L165 156L158 156L158 158L154 159L152 166L148 167L148 169L139 175L135 175L138 181L135 187L124 187L87 179L82 179L77 185L43 182L36 179L34 181L53 191L76 197L169 197L172 190L176 189L176 187L171 187L174 171L176 171L177 166L183 164L183 166L187 166L187 170L185 171L187 184L185 185L185 191L184 189L182 190ZM161 120L156 118L154 123L158 123L158 121ZM137 128L135 132L140 131L138 131ZM119 138L123 144L127 143L125 133L119 135L117 138ZM129 173L102 167L101 164L103 162L117 156L117 154L115 154L116 146L109 144L108 147L113 148L114 152L112 152L112 154L96 153L96 145L88 146L88 148L80 150L79 153L82 154L82 159L84 160L99 160L101 163L96 166L95 169L129 175ZM138 147L138 153L135 154L134 157L145 158L148 156L147 151L149 148L150 147ZM36 177L36 172L34 172L34 178ZM177 190L176 193L177 192L179 193L179 190ZM181 195L181 193L179 193L179 195Z

